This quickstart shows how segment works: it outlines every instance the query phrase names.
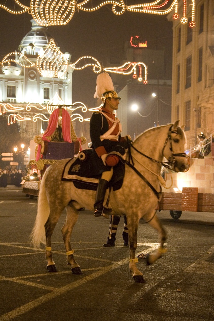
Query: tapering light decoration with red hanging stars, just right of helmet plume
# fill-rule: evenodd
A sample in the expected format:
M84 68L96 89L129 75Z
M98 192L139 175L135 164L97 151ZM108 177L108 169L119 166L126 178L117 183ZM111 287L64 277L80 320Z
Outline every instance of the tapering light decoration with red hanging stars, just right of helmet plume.
M143 62L130 62L130 61L128 61L128 62L124 63L120 67L107 67L107 68L103 68L103 70L107 71L109 73L122 74L122 75L129 75L132 72L134 72L132 77L134 79L138 78L138 81L142 82L143 78L142 78L142 67L141 67L141 65L143 65L144 68L145 68L144 80L147 81L147 66ZM139 68L139 76L137 76L137 66Z

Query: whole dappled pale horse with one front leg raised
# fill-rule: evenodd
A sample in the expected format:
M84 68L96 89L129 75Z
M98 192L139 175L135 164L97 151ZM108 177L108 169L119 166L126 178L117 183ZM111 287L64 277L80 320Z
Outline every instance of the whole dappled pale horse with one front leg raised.
M137 268L135 251L137 248L137 231L140 218L144 218L157 230L160 247L148 257L148 264L155 262L165 252L166 232L156 215L156 205L160 196L159 179L163 158L174 171L188 169L185 157L185 134L179 121L166 126L148 129L140 134L130 145L130 153L125 163L125 176L122 187L111 191L109 206L112 213L125 215L129 230L130 260L129 270L135 282L145 282L143 274ZM130 160L133 160L133 163ZM56 272L56 265L51 253L51 235L62 211L66 208L67 217L62 227L67 262L74 274L82 274L75 260L70 244L70 236L82 208L94 210L96 191L77 189L73 182L62 181L62 173L67 159L59 160L45 172L40 186L38 212L32 231L34 247L46 244L47 269Z

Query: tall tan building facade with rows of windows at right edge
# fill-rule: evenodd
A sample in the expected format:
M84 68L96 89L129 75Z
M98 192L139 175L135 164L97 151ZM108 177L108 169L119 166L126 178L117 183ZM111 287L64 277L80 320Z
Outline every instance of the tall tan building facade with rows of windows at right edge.
M179 5L181 18L183 1ZM185 125L188 147L198 143L201 131L214 133L213 0L195 1L195 27L173 20L172 122L177 119Z

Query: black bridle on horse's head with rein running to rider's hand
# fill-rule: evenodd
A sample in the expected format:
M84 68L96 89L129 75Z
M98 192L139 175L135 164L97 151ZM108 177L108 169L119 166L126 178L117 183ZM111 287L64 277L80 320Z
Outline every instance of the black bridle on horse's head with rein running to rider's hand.
M176 164L176 159L175 157L186 157L186 153L177 153L175 154L173 152L173 149L172 149L172 134L178 134L178 131L177 130L174 130L172 131L172 126L170 127L169 131L168 131L168 134L167 134L167 137L166 137L166 140L165 140L165 143L164 143L164 147L163 147L163 151L162 151L162 155L164 156L164 149L166 147L166 144L169 142L170 143L170 146L169 146L169 149L170 149L170 152L171 152L171 155L169 157L169 159L167 159L167 162L161 162L159 160L155 160L154 158L152 157L149 157L147 156L146 154L138 151L138 149L136 147L133 146L133 142L130 141L130 144L131 144L131 147L136 151L138 152L140 155L143 155L145 156L146 158L164 166L165 168L168 168L168 169L172 169L174 170L174 167L175 167L175 164Z

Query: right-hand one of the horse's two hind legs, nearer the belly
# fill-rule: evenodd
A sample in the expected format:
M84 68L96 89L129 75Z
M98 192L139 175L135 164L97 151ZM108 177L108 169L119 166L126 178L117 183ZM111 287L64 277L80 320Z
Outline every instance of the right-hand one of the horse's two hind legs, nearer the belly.
M66 221L62 227L62 237L65 243L65 250L67 255L67 264L71 265L71 272L73 274L83 274L80 266L76 262L74 258L74 250L71 248L70 237L73 230L74 225L78 219L78 211L72 204L68 204L66 206L67 216Z

